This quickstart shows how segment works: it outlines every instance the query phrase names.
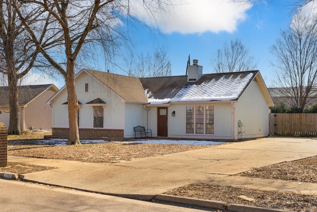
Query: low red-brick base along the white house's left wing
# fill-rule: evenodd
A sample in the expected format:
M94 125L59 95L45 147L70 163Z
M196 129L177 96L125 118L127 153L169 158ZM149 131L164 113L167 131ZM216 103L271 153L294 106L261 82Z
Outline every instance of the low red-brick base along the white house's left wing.
M103 139L103 140L123 140L123 130L111 129L78 129L80 139ZM57 138L68 138L68 128L52 128L52 136Z

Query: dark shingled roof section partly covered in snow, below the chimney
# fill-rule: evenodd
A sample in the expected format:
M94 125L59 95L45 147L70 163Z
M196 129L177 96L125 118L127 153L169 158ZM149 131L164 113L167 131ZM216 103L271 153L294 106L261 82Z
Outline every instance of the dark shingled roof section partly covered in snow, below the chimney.
M187 82L186 75L140 80L149 99L174 97L173 101L237 100L257 73L258 71L209 73L203 74L197 82ZM244 83L240 83L242 81Z

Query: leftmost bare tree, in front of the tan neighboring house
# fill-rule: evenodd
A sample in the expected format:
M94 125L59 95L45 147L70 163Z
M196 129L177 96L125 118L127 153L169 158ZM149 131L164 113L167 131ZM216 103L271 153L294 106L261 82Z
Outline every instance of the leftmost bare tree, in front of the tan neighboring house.
M41 13L37 8L27 8L18 3L13 6L13 0L0 0L0 73L4 74L9 87L9 135L21 134L19 124L18 80L27 74L34 66L39 53L37 47L31 42L28 32L20 21L17 9L28 13L25 19L33 24L35 17ZM38 26L41 28L40 26ZM45 25L42 26L45 28ZM45 32L45 30L42 30ZM45 33L39 34L43 48Z

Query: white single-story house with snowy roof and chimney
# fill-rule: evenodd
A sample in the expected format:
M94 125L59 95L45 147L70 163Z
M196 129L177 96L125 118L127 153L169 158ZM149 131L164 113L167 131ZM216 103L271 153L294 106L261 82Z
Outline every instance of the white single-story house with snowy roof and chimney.
M260 71L202 74L202 70L196 61L184 76L136 78L79 71L75 87L80 138L133 138L133 127L138 125L152 129L153 137L267 136L273 101ZM68 137L66 87L47 104L53 106L53 136Z

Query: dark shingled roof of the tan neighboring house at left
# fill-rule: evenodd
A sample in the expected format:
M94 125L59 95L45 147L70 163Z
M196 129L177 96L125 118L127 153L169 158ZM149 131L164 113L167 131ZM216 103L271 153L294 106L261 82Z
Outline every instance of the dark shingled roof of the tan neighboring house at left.
M46 89L54 86L53 84L45 85L22 85L19 89L19 106L24 106L41 94ZM9 87L0 87L0 105L9 105Z

